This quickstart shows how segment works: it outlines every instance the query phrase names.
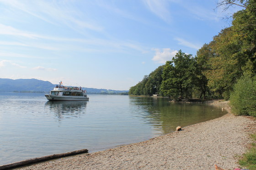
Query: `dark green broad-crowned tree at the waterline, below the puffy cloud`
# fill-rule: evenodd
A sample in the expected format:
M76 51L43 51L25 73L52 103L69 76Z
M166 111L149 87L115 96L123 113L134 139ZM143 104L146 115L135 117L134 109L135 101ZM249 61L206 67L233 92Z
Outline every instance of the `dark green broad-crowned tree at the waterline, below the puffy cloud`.
M162 74L161 90L165 96L187 98L191 96L195 60L181 50L167 61Z

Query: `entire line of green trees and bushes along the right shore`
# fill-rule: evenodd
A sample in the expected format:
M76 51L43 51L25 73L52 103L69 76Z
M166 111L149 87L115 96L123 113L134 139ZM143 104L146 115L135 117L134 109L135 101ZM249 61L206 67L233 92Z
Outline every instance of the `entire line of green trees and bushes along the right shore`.
M129 95L224 98L237 114L256 116L256 0L222 0L218 5L243 9L196 56L180 50L131 87Z

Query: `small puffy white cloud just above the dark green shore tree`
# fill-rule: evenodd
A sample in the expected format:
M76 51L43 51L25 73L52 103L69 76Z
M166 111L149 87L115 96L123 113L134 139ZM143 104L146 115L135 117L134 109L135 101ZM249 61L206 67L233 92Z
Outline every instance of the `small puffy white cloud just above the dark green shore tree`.
M155 56L152 58L153 61L158 63L165 63L170 61L172 57L175 57L177 50L171 50L170 48L163 48L162 51L158 48L155 50Z

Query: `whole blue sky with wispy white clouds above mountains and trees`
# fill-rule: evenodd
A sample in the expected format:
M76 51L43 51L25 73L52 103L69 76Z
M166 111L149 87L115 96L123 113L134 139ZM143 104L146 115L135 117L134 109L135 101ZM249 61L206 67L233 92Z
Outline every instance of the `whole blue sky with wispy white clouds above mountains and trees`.
M0 0L0 78L129 90L230 26L217 0Z

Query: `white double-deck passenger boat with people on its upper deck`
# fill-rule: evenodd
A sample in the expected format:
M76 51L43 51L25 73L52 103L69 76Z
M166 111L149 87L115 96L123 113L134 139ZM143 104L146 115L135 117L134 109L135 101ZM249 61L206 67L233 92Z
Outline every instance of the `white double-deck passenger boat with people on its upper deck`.
M65 87L59 83L50 94L45 94L48 100L89 100L87 93L81 87Z

